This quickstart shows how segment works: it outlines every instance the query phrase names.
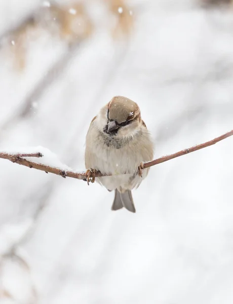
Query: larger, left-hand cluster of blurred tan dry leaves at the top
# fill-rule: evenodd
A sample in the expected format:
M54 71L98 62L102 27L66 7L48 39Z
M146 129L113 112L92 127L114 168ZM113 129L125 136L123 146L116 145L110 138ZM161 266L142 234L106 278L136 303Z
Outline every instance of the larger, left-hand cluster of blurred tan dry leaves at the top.
M93 31L93 25L82 3L43 7L13 29L7 37L6 51L12 56L17 70L22 71L26 66L28 42L40 36L43 29L53 36L58 35L71 46L87 39Z

